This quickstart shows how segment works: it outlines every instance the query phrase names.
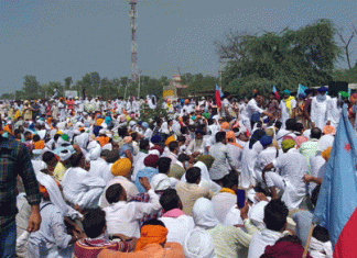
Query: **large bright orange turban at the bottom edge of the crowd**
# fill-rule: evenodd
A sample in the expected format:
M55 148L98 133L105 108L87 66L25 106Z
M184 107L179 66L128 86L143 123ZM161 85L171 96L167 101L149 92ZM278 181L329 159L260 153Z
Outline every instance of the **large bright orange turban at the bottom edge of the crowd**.
M140 238L137 242L136 251L143 250L150 244L164 244L166 242L167 228L159 225L145 225L141 227Z

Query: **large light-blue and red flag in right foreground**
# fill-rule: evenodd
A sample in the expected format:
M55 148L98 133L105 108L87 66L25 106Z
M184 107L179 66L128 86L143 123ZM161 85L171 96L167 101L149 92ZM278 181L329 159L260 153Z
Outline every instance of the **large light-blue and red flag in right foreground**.
M357 254L357 141L346 104L342 113L313 217L328 229L334 258Z

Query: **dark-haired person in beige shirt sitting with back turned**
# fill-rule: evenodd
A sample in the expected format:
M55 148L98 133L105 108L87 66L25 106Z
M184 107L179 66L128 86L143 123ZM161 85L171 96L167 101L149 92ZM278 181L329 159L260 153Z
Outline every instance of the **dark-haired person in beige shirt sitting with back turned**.
M201 169L192 167L187 170L186 182L177 182L176 191L183 204L183 212L192 215L192 207L198 198L213 198L213 192L198 186L201 182Z

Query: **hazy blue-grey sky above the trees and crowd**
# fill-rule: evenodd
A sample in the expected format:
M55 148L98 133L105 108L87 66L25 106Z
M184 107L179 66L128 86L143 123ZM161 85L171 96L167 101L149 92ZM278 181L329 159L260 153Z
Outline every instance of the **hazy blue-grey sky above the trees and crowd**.
M331 19L344 35L357 27L357 0L137 0L142 75L218 75L214 42L226 32L279 32ZM0 0L0 96L86 72L130 77L129 0ZM339 42L336 37L336 42ZM350 45L357 58L357 37ZM339 67L346 63L339 61Z

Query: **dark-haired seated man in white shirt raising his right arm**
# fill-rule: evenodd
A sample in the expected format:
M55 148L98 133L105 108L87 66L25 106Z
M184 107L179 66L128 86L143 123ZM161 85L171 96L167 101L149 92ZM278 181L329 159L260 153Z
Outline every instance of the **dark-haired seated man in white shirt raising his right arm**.
M106 191L109 206L105 207L109 234L123 234L129 237L139 237L139 223L144 215L161 210L159 195L151 189L147 177L140 178L140 183L150 195L150 203L127 202L127 192L120 183L110 186Z

